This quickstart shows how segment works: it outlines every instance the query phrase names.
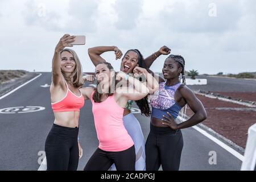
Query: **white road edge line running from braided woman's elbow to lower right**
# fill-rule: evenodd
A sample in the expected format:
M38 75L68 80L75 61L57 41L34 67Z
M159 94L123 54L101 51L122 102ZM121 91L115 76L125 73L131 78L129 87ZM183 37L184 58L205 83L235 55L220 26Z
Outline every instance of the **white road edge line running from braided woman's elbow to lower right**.
M179 117L179 119L181 121L185 121L185 119L182 119L181 117ZM200 127L198 126L192 126L193 129L195 129L196 131L199 131L199 133L203 134L205 137L209 138L210 140L212 140L213 142L217 143L219 146L221 146L222 148L224 148L226 151L228 151L230 154L236 156L236 158L240 159L243 161L243 155L241 155L239 152L237 152L236 150L234 150L233 148L229 147L227 144L221 142L221 140L217 139L216 137L213 137L212 135L210 135L209 133L207 133L207 131L200 129Z

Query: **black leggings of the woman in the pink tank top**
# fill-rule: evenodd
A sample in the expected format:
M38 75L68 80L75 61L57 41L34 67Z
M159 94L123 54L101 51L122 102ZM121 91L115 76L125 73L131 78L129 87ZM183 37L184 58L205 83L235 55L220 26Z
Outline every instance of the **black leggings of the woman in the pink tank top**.
M135 147L120 152L109 152L97 148L88 160L84 171L108 171L115 164L117 171L135 171Z

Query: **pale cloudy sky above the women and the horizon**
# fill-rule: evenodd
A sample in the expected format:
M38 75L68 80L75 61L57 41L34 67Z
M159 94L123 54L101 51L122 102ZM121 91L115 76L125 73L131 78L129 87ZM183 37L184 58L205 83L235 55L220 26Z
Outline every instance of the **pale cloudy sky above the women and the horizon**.
M89 47L138 48L146 57L164 45L184 56L187 70L256 71L254 0L0 0L0 22L0 69L51 71L54 48L69 33L86 36L73 47L85 72L94 71ZM103 57L119 69L113 52Z

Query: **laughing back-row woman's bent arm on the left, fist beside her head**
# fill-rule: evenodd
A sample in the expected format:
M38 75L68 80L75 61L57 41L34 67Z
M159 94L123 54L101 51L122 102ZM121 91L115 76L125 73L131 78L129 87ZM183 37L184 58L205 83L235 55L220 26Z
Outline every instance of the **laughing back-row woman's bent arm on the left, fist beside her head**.
M120 59L123 55L122 51L120 51L116 46L98 46L88 49L88 55L94 66L99 63L106 62L106 60L101 57L101 54L108 51L115 52L115 60Z

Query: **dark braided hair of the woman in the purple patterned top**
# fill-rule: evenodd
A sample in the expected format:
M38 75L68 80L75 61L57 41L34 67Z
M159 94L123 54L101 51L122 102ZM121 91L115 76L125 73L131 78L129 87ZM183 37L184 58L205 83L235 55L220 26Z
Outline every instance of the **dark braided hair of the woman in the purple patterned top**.
M176 63L179 63L179 65L182 67L182 72L181 72L181 76L182 76L182 83L184 85L186 85L186 79L185 79L185 60L182 56L180 55L170 55L167 57L168 58L171 58L173 60L176 61ZM187 104L182 107L181 109L181 122L185 121L185 114L186 114L186 111L187 111Z

